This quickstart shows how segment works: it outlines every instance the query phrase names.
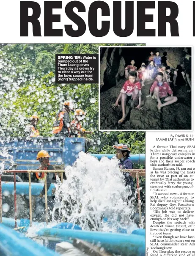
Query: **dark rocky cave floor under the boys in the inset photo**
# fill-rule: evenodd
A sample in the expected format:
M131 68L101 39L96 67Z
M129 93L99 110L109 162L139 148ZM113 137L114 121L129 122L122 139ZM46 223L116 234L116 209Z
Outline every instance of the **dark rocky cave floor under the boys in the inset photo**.
M142 89L143 110L130 109L130 102L126 105L126 113L129 112L127 120L118 124L122 117L121 107L113 110L118 94L126 80L121 79L117 84L100 94L100 129L192 129L191 128L191 93L185 85L172 87L173 95L178 101L173 105L162 107L161 112L157 110L157 101L151 97L146 98L153 81L146 81ZM104 85L105 86L105 85ZM136 106L136 105L135 105Z

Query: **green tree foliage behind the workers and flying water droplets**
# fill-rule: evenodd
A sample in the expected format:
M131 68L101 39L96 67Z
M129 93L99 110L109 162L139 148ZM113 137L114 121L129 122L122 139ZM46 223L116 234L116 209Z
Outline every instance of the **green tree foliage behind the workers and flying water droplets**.
M5 118L10 131L12 127L16 128L10 135L23 136L24 126L29 123L30 116L37 114L40 116L40 134L51 136L55 115L61 108L61 102L72 99L75 108L87 111L82 125L86 130L93 131L93 135L88 135L88 138L95 140L95 144L89 149L90 152L114 154L112 146L115 143L128 143L132 154L145 153L144 132L98 131L97 84L55 84L55 53L98 53L99 46L128 45L137 44L8 44L3 47L5 55L1 55L1 58L10 62L15 70L11 72L12 67L3 69L2 75L13 79L13 83L20 79L16 91L9 92L9 95L5 93L3 98L0 98L5 110L9 111L12 105L13 114ZM10 86L12 87L12 83ZM96 99L96 102L91 103L91 98ZM23 123L21 119L24 119ZM96 143L97 140L100 143Z

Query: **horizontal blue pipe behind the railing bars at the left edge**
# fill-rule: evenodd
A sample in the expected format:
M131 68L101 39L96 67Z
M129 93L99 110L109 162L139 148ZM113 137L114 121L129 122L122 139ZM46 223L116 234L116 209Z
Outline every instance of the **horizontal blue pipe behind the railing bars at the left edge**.
M40 195L44 183L31 183L31 194ZM47 195L52 195L52 188L55 188L55 184L51 184ZM14 191L14 182L2 182L2 193L8 191L10 194ZM29 195L29 184L28 182L16 182L16 194L17 195Z

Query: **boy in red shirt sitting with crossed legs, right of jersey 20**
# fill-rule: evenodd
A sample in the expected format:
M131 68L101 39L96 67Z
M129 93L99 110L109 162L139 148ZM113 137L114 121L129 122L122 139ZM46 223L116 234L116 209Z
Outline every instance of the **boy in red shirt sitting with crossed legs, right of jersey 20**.
M152 96L153 93L153 96ZM170 96L168 96L168 94ZM173 96L173 91L170 88L170 85L163 81L163 74L162 72L157 73L157 80L153 83L150 88L150 94L148 97L156 99L158 102L158 110L160 111L162 107L173 104L177 101L177 97Z

